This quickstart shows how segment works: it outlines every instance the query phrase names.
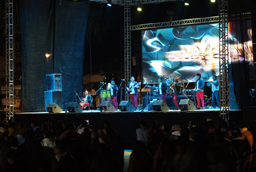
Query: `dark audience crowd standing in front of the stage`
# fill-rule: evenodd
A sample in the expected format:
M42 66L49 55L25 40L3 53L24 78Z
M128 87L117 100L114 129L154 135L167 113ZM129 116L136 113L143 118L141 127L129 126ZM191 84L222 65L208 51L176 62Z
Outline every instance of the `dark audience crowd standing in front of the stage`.
M129 172L255 170L253 135L241 124L207 118L204 128L194 121L181 128L153 120L147 129L141 121L134 133ZM0 171L121 172L123 167L124 143L109 121L97 131L86 120L77 127L49 120L40 126L0 123Z

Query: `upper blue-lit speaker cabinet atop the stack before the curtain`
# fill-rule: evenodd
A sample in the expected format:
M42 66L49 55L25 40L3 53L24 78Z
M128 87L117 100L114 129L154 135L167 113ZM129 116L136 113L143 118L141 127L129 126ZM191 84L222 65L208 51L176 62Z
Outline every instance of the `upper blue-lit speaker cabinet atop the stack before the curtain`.
M54 74L46 75L46 90L47 91L62 90L61 74L54 73Z

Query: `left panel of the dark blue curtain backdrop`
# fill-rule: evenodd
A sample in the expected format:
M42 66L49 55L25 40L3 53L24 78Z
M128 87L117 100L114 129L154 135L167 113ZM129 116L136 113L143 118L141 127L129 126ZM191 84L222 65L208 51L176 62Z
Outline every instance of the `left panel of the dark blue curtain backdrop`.
M20 0L22 111L45 110L46 74L53 72L53 1Z

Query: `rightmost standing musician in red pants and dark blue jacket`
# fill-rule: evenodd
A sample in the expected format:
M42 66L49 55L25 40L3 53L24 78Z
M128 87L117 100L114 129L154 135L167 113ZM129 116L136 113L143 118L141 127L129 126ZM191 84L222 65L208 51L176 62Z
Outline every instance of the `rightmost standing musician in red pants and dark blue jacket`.
M197 91L197 109L201 109L201 107L204 108L204 81L201 78L201 73L197 73L197 81L196 81L195 89L202 90L202 91Z

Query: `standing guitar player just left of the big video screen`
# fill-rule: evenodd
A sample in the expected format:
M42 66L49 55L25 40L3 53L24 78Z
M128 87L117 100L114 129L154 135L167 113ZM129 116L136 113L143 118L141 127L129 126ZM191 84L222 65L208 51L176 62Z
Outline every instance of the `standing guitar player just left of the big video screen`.
M134 77L131 77L131 81L127 84L126 90L130 93L130 99L132 102L132 105L135 107L135 109L138 108L138 88L139 88L138 82L135 81ZM130 90L131 89L131 90Z

